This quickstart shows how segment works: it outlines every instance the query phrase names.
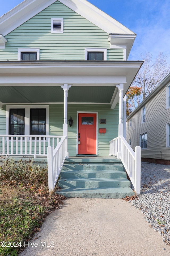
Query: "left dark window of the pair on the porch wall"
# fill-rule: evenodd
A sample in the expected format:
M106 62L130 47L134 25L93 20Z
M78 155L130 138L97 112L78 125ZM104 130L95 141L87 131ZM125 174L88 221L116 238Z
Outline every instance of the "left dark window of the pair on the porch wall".
M23 135L25 109L10 109L9 134Z

